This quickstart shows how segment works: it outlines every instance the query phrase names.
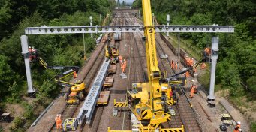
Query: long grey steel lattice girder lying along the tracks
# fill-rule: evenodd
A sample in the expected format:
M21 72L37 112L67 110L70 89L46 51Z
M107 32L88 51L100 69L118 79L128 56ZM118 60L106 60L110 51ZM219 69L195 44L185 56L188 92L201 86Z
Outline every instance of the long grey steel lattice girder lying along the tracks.
M110 60L104 61L101 65L101 69L95 78L94 83L90 89L89 94L84 101L83 106L80 108L80 112L77 115L77 121L82 124L83 120L86 118L86 124L89 124L92 118L92 114L95 110L96 103L98 101L98 95L101 92L102 84L104 83L104 78L107 75L107 69L110 66Z

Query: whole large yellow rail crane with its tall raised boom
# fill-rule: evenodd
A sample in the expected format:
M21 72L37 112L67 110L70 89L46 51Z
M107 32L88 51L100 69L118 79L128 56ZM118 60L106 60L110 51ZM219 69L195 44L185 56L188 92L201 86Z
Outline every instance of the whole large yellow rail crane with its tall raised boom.
M166 105L175 104L170 92L173 92L166 78L167 72L158 68L157 52L155 47L155 28L152 25L152 12L150 0L143 0L144 38L146 41L146 65L149 82L133 83L133 88L128 91L128 104L131 112L140 121L140 131L155 131L162 123L170 121ZM178 82L179 83L179 82ZM122 102L114 102L122 104ZM122 105L125 107L125 104ZM184 128L170 128L168 130L182 130ZM115 131L115 130L114 130Z

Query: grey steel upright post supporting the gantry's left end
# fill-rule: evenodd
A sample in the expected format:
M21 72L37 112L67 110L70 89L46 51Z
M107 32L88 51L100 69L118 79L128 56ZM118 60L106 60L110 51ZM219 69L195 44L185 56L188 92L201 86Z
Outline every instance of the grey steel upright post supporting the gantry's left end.
M35 89L33 89L32 86L32 77L31 77L31 70L30 70L30 64L29 64L29 44L28 44L28 37L26 35L22 35L20 37L21 40L21 47L22 47L22 55L24 57L25 67L26 67L26 77L28 81L28 91L27 93L29 95L34 94Z

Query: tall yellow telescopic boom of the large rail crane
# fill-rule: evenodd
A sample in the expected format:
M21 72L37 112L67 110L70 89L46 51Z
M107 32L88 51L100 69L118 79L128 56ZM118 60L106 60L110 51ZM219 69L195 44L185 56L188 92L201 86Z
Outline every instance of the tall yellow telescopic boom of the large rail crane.
M144 35L146 37L146 65L149 77L150 105L154 110L161 110L161 86L159 86L159 77L161 72L158 68L158 59L155 47L155 28L152 25L152 13L149 0L142 1Z

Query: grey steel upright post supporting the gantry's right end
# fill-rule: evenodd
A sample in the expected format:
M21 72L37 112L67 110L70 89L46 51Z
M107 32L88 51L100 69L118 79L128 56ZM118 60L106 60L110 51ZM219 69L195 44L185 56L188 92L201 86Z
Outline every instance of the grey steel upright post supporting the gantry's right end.
M211 51L211 81L209 85L209 95L207 96L208 100L211 101L209 104L215 106L215 96L214 96L214 85L215 85L215 71L218 59L218 37L212 37L212 51Z

